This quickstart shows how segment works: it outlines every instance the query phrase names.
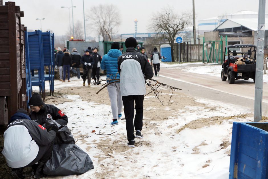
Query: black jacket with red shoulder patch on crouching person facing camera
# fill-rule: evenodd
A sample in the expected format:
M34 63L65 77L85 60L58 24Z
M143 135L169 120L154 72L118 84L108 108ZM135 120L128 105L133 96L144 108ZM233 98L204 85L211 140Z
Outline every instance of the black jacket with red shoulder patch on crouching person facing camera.
M32 111L29 116L41 125L45 123L46 119L53 119L60 125L67 125L68 123L68 117L59 108L51 104L44 103L39 112Z

